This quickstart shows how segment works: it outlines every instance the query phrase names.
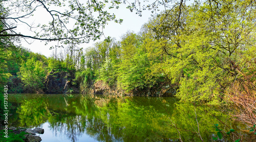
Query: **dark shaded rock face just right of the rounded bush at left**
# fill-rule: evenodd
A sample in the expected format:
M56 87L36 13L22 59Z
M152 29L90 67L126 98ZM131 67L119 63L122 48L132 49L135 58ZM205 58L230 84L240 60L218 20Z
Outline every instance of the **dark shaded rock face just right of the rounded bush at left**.
M79 93L77 83L74 84L75 71L57 71L49 72L45 79L45 93Z

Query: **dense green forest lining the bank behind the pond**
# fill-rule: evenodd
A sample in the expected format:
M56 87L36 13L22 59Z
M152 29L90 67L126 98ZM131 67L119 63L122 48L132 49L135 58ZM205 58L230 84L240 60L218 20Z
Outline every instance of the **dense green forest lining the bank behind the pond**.
M111 2L116 6L121 1ZM93 6L97 7L96 4L95 1ZM128 8L139 11L136 7ZM4 94L7 85L9 94L174 96L179 102L217 106L223 111L232 106L232 110L227 110L232 111L232 119L246 124L250 133L249 139L238 136L229 140L253 141L256 138L255 9L255 1L209 0L191 5L180 1L172 9L149 18L139 33L128 31L120 40L107 37L91 47L80 47L76 44L82 42L80 38L71 39L65 32L59 33L57 26L63 25L56 22L53 35L57 39L51 34L29 37L64 40L65 46L53 48L51 57L47 58L14 44L26 36L8 31L11 30L5 24L8 12L1 1L0 91ZM110 16L108 14L105 16ZM105 23L103 19L115 20L114 17L102 18L96 24ZM90 33L98 25L86 24L81 28L87 27ZM45 28L49 33L49 29L53 29ZM74 35L80 34L79 29L73 30ZM93 38L98 38L99 33L95 31ZM42 39L44 36L49 39ZM51 86L59 90L54 92ZM4 113L3 100L1 95L1 114ZM1 119L4 120L3 115ZM214 127L219 140L233 132L230 129L220 134L218 125ZM202 137L200 141L204 141Z

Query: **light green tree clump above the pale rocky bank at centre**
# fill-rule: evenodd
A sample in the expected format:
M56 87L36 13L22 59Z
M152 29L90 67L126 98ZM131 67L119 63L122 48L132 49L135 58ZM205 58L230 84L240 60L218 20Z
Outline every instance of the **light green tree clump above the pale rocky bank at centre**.
M106 45L108 48L103 48ZM97 54L97 51L108 49L103 51L106 53L104 63L97 64L100 65L97 67L100 68L98 79L108 83L109 86L117 84L126 92L141 91L159 83L163 75L161 72L155 73L156 68L152 69L154 63L150 61L151 57L145 47L146 45L142 44L141 38L130 32L122 36L120 45L113 40L110 43L106 43L106 41L97 43L94 53ZM102 56L102 53L98 54ZM87 57L92 59L90 56ZM98 60L93 61L94 64L98 62Z

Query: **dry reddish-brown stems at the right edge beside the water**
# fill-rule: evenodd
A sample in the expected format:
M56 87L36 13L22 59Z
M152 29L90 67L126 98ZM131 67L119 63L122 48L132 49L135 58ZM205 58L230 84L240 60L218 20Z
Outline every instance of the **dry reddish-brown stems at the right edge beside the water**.
M231 84L226 96L234 105L234 116L238 121L253 126L256 123L256 71L238 72L241 76Z

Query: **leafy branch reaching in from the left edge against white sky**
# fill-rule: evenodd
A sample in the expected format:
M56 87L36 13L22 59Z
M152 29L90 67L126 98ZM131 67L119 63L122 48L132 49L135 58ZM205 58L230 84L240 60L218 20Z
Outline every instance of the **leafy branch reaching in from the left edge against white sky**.
M42 40L46 42L58 41L61 44L80 44L88 43L90 40L97 40L102 36L101 28L104 28L108 21L114 21L121 23L122 19L117 19L115 14L111 14L106 11L106 5L110 5L112 8L118 8L119 1L89 1L89 2L77 2L71 1L36 1L35 6L30 5L31 2L27 1L15 1L12 4L4 3L0 1L2 16L2 24L4 30L1 30L1 37L26 37L31 39ZM30 5L30 7L27 7ZM40 6L36 6L40 5ZM47 6L47 7L46 7ZM65 6L65 7L63 7ZM63 8L60 8L63 7ZM30 18L32 16L40 16L34 13L39 8L46 8L45 14L50 14L53 21L49 19L46 21L48 24L38 23L35 21L30 23L24 20L24 17ZM56 10L58 8L58 10ZM9 12L11 10L17 10L20 17L10 17ZM32 10L32 11L31 11ZM44 13L44 11L42 11ZM92 16L94 15L94 16ZM69 22L71 19L76 19L74 22ZM16 26L12 27L12 24L24 24L27 29L32 31L32 35L28 36L28 33L19 33L19 35L13 35L12 30ZM37 24L32 26L33 24ZM35 32L32 29L37 27L40 32ZM37 31L36 30L36 31ZM59 47L57 44L55 47Z

